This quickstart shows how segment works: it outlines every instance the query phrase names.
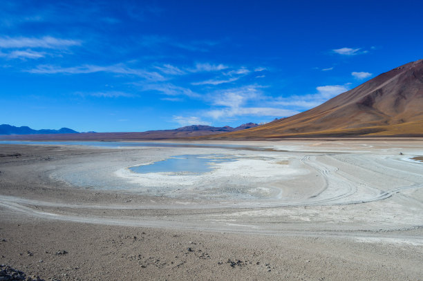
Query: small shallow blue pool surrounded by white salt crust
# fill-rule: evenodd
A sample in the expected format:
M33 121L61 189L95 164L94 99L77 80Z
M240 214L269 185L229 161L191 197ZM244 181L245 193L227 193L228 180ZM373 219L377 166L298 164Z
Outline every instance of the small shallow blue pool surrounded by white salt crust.
M234 161L232 155L178 155L129 169L135 173L207 173L213 171L214 164Z

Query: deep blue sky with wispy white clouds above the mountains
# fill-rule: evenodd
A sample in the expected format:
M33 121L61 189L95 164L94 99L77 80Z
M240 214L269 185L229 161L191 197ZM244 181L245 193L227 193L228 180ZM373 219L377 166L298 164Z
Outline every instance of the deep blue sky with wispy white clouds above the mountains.
M422 59L422 10L422 1L1 1L0 124L269 122Z

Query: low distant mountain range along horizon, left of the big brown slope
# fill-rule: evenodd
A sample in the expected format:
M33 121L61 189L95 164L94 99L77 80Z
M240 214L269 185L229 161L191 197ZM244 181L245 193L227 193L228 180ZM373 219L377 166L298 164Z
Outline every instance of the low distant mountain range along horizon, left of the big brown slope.
M3 129L3 126L5 129ZM256 123L246 123L232 128L229 126L213 127L205 125L191 125L173 130L149 130L147 132L124 132L124 133L78 133L75 130L62 128L60 130L32 130L29 127L15 127L10 125L0 126L0 139L15 140L152 140L152 139L176 139L180 137L198 137L220 133L235 132L247 128L259 126Z

